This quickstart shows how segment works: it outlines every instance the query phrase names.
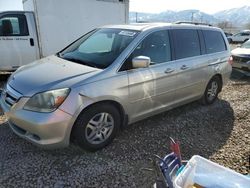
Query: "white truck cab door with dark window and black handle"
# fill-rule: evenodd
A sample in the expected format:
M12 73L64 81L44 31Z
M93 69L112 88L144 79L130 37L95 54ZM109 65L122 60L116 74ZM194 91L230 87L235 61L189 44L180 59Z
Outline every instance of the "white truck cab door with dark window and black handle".
M0 14L0 70L15 70L39 57L36 34L23 13Z

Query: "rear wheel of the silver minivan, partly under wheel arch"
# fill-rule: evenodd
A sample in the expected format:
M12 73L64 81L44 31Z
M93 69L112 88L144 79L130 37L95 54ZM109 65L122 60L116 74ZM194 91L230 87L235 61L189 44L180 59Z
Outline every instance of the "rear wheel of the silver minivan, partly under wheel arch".
M207 84L206 90L201 98L201 103L210 105L215 102L221 91L222 83L218 76L213 77Z

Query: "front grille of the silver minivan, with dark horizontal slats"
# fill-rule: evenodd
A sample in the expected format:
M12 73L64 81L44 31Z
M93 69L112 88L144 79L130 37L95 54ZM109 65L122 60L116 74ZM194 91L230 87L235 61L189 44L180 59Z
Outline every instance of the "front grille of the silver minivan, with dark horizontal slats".
M9 85L7 85L2 92L2 97L4 98L5 103L9 106L13 106L15 103L17 103L21 96L22 95L19 92L14 90Z

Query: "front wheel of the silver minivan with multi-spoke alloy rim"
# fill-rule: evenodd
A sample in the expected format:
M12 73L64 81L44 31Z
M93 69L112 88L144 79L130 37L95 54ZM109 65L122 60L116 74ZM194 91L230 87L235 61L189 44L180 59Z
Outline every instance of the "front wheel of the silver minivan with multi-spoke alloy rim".
M97 104L79 115L72 136L81 148L96 151L113 141L120 125L120 113L114 106Z

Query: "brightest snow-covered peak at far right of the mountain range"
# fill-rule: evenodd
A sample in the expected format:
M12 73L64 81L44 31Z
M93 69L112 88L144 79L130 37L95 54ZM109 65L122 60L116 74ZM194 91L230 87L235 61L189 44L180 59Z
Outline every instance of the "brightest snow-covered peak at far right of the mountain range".
M233 24L247 24L250 23L250 6L224 10L215 13L214 17L218 18L219 20L232 22Z

